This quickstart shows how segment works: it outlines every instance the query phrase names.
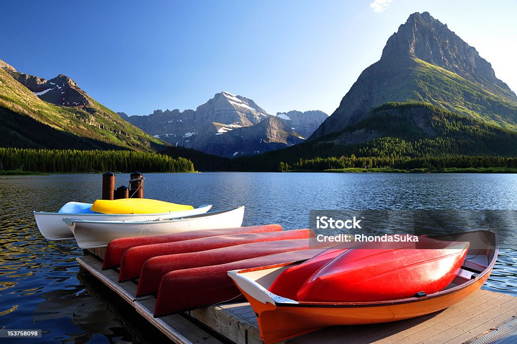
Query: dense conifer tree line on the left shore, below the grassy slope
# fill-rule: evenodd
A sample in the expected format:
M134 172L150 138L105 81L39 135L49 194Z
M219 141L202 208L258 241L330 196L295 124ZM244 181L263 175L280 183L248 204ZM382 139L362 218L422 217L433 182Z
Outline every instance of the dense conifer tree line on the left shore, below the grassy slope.
M0 148L0 169L48 173L193 172L185 158L129 150Z

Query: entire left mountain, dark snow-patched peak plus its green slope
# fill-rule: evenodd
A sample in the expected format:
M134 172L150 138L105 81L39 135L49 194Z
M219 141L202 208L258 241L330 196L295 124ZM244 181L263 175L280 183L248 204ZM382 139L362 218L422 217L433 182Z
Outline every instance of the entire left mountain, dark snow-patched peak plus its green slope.
M0 146L162 150L159 139L89 97L66 75L16 71L0 60Z

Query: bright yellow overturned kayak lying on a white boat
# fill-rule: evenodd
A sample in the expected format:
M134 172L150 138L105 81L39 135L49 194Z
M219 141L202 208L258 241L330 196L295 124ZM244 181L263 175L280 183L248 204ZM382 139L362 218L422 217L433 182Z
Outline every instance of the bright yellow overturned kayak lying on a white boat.
M93 211L103 214L155 214L192 210L194 207L148 198L97 199Z

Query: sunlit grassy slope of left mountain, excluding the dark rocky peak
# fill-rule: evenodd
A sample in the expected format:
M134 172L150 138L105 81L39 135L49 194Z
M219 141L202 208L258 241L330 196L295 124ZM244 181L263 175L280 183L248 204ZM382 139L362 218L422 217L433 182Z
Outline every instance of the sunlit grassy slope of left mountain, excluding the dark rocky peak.
M85 93L86 94L86 93ZM84 107L47 103L0 68L3 147L161 150L162 141L88 97Z

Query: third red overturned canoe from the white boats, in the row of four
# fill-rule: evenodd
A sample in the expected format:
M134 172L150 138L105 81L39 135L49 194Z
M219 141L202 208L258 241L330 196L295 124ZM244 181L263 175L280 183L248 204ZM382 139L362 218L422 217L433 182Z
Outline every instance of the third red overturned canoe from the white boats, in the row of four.
M311 236L314 233L310 233ZM320 245L318 247L318 244ZM158 291L162 277L171 271L208 267L233 261L268 256L276 253L300 251L301 249L322 248L314 238L254 242L230 247L209 249L208 251L166 255L148 259L140 273L136 296Z

